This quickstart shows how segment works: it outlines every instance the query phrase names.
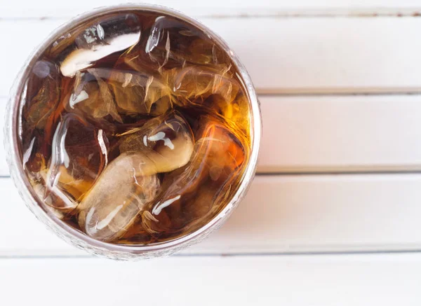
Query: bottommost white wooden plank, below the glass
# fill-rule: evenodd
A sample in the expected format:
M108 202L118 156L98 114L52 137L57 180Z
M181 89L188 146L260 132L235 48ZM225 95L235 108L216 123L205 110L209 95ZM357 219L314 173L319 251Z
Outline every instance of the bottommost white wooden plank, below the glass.
M6 305L420 305L420 254L0 260ZM63 298L69 291L72 298Z

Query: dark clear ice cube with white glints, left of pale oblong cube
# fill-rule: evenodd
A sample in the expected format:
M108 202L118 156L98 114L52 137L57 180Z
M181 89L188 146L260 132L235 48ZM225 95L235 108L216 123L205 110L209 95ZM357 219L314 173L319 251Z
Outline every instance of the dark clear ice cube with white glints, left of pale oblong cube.
M49 205L58 209L77 206L107 165L108 140L102 130L74 114L65 115L55 130L48 169L41 171L50 193L60 198Z

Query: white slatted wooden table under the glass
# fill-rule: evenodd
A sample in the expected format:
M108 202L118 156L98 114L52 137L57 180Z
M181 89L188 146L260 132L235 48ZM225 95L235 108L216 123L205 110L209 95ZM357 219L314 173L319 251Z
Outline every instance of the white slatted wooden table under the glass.
M419 306L421 1L150 2L201 20L248 68L264 120L258 176L205 242L116 263L36 221L1 148L0 305ZM1 110L49 32L118 3L0 0Z

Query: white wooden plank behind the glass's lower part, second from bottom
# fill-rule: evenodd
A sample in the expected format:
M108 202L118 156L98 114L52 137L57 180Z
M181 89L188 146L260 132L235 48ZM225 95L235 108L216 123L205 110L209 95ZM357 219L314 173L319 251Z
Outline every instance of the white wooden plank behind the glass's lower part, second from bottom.
M184 253L247 254L421 249L421 174L257 176L229 221ZM83 252L36 221L0 179L0 256Z

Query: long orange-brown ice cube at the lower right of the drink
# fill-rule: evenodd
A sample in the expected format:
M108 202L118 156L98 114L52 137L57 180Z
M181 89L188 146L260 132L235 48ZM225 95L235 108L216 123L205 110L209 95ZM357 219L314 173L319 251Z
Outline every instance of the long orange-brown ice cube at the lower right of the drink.
M231 183L241 173L247 156L243 143L218 120L201 120L206 127L194 145L189 164L166 174L163 191L142 214L151 234L194 230L210 211L226 204Z

